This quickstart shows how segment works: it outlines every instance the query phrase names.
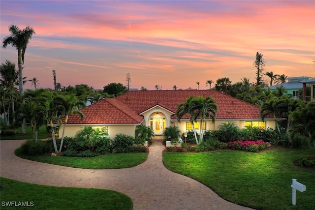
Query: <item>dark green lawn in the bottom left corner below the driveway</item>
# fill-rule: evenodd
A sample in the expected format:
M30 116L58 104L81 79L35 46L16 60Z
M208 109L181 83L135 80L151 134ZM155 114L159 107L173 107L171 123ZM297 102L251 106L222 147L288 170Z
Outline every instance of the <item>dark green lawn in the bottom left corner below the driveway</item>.
M53 187L0 178L1 210L131 210L125 194L103 189ZM33 207L5 207L3 202L28 202ZM32 202L32 203L31 203ZM5 204L5 203L4 203Z

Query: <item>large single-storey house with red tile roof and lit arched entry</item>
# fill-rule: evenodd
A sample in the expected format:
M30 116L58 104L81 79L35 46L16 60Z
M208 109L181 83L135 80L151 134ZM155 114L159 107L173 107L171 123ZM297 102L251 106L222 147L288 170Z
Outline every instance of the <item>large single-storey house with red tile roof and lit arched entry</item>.
M136 126L140 124L149 126L155 135L162 135L168 126L178 126L182 132L185 132L192 129L189 116L184 116L178 122L175 113L177 106L191 95L211 96L218 105L215 122L212 123L210 119L202 125L197 122L196 129L202 126L202 129L214 130L227 121L234 122L240 128L249 125L275 128L275 120L272 116L261 121L259 107L217 90L139 90L128 91L115 98L102 99L81 109L80 111L85 115L84 120L78 115L70 115L65 136L74 136L83 126L102 128L111 138L118 133L134 136Z

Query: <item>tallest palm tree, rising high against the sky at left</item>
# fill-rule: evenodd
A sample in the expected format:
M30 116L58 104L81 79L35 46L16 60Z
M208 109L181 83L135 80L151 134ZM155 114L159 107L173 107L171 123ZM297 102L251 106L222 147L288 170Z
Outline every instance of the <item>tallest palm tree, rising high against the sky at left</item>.
M19 91L20 97L22 98L23 94L23 67L24 56L26 48L29 44L29 41L32 39L32 35L35 34L35 31L32 27L27 26L25 29L20 30L19 27L15 25L9 26L10 35L6 36L3 39L3 48L6 48L8 45L12 45L18 51L18 67L19 67ZM22 124L22 133L26 133L26 121L23 120Z

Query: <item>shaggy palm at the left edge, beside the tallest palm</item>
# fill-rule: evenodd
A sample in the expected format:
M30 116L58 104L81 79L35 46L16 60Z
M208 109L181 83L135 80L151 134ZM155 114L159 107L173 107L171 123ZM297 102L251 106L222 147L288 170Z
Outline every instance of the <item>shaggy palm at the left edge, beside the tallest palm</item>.
M4 86L7 91L8 97L11 99L11 106L12 106L12 118L13 123L15 122L15 108L14 108L14 99L16 99L15 88L16 85L19 83L19 72L15 70L15 64L6 60L5 63L0 65L0 83Z

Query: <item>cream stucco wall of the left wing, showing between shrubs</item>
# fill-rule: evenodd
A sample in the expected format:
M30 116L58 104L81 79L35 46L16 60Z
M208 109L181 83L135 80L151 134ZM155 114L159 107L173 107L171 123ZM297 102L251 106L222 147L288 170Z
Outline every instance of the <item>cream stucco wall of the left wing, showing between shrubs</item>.
M81 130L84 126L82 125L67 125L64 131L64 136L74 137L76 132ZM114 138L116 134L123 133L128 136L134 137L136 125L108 125L108 134L110 138ZM63 127L59 130L61 136L63 132Z

